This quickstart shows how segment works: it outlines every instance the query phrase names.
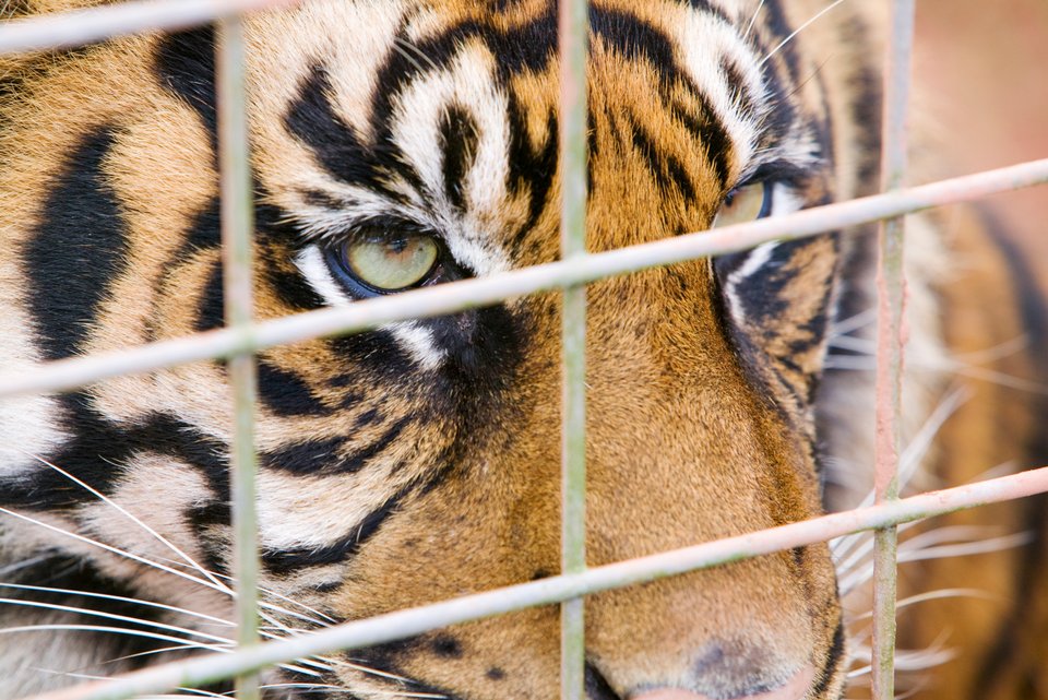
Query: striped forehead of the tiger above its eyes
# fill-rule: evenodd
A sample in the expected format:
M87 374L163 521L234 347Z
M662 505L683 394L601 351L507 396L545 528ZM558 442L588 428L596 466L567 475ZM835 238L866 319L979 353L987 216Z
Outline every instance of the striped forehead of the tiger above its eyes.
M701 227L755 149L752 49L707 5L604 0L591 26L592 205ZM257 59L258 80L283 85L258 98L276 117L259 120L263 183L318 237L396 215L444 232L475 272L510 266L514 245L555 228L557 27L548 1L319 2L260 20L260 44L309 37Z

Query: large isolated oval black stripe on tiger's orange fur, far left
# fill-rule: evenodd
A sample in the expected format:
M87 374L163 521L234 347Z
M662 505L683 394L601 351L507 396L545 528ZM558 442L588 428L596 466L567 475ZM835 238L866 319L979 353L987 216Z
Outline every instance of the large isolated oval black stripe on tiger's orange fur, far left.
M112 128L87 134L44 202L36 235L23 250L29 309L47 359L83 347L106 289L128 254L127 223L103 168Z

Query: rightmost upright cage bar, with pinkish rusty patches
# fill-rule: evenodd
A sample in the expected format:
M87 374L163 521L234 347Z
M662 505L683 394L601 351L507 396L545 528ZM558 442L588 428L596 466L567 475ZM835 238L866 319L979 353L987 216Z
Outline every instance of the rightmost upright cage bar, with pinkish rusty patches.
M909 82L914 43L914 0L892 4L891 38L884 70L884 112L881 141L881 189L902 188L906 177ZM878 235L877 318L877 439L874 493L877 502L898 498L902 375L906 343L903 316L906 287L903 270L904 218L885 220ZM895 696L895 597L898 531L873 535L873 700Z

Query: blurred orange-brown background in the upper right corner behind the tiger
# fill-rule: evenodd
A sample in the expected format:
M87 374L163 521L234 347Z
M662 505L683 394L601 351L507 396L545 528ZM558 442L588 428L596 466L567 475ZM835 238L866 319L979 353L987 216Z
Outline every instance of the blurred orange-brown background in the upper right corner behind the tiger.
M914 61L943 175L1048 157L1048 0L917 0ZM1048 187L991 201L1048 269Z

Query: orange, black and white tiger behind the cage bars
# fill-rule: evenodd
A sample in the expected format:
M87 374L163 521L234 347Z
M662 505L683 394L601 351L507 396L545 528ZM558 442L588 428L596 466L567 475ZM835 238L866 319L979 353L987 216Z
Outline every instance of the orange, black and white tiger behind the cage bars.
M587 250L877 192L886 4L593 0ZM306 0L245 20L257 320L559 259L557 13ZM4 376L224 324L215 47L203 26L0 58ZM874 230L587 287L588 566L864 501ZM906 488L1045 463L1033 261L970 207L910 217L906 247ZM543 293L258 354L263 638L560 573L561 318ZM234 645L231 434L222 360L0 403L0 697ZM901 671L930 650L916 697L1048 698L1046 512L904 533L903 561L988 550L901 570ZM588 596L586 698L860 697L869 561L848 538ZM549 700L559 664L545 606L262 684Z

